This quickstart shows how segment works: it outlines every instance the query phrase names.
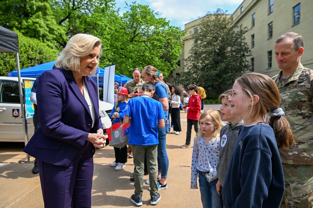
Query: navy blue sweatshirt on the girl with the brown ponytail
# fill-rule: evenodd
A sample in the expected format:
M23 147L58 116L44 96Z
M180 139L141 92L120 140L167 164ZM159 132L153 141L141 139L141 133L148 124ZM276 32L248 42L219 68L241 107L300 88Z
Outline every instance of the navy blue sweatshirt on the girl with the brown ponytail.
M273 129L266 123L239 130L222 189L224 207L280 207L284 173Z

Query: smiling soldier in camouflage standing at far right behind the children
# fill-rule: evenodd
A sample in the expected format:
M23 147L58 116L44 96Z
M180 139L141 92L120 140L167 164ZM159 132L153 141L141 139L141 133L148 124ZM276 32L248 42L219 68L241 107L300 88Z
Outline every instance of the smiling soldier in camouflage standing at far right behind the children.
M281 71L273 80L295 140L290 148L279 150L285 177L280 207L313 206L313 70L300 63L303 51L302 36L293 32L282 35L275 44Z

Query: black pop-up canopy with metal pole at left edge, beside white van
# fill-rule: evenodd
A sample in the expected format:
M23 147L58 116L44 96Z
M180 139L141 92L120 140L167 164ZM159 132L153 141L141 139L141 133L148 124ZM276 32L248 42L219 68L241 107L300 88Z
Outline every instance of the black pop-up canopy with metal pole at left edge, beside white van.
M18 35L2 26L0 26L0 52L3 53L15 53L16 54L16 67L18 70L18 87L20 93L20 103L21 103L21 112L23 117L23 126L24 126L24 135L25 135L25 145L28 143L28 132L27 132L27 121L25 116L25 107L23 102L23 91L22 91L22 82L21 82L21 73L19 65L19 56L18 56ZM27 155L29 161L29 156Z

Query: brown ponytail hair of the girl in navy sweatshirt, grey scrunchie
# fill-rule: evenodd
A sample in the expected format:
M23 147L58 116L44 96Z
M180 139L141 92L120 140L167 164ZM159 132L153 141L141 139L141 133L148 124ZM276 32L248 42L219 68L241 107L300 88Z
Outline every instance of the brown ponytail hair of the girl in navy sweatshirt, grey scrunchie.
M290 147L293 135L289 122L284 116L271 116L274 110L280 108L280 94L275 82L269 76L255 72L246 72L235 81L248 99L254 100L253 95L259 96L259 102L251 106L251 120L261 114L264 122L273 128L278 148Z

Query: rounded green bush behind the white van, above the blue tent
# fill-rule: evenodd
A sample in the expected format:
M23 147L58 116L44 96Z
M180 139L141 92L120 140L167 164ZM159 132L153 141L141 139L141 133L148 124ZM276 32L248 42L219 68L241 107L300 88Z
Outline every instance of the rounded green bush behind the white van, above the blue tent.
M47 44L35 39L18 34L20 68L28 68L38 64L53 61L57 58L58 51L51 49ZM0 53L0 76L7 76L11 71L17 70L15 53Z

